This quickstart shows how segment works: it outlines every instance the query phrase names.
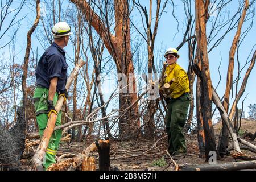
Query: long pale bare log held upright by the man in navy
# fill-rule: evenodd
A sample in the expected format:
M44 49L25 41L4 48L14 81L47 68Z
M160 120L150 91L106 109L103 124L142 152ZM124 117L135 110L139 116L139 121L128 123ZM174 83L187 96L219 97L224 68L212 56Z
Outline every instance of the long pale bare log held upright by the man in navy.
M80 61L79 64L76 65L76 67L73 69L71 75L68 78L67 84L66 84L66 89L68 90L68 88L71 86L71 83L73 81L73 78L75 77L75 75L77 75L77 73L79 72L79 69L85 64L84 61ZM57 100L57 104L55 106L55 109L57 111L57 113L59 113L62 105L63 105L63 101L64 101L64 97L59 97L59 99ZM48 122L47 122L47 126L46 129L44 130L43 136L41 138L40 144L38 146L38 148L36 149L35 155L32 158L32 163L34 163L35 167L37 170L43 170L43 159L44 156L46 154L46 149L48 147L49 144L49 139L53 133L54 127L55 127L55 123L56 123L56 118L57 115L52 113L49 116Z

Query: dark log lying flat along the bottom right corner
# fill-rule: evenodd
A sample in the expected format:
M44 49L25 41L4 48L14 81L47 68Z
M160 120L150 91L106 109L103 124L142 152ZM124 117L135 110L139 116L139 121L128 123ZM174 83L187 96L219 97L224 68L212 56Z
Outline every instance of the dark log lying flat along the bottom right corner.
M201 164L198 166L184 166L180 168L180 171L235 171L242 169L256 169L256 160L226 164Z

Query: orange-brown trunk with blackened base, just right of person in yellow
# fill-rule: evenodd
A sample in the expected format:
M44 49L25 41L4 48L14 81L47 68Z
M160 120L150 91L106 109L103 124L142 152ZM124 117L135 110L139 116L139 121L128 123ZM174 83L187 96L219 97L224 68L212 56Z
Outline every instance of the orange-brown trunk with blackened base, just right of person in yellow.
M214 130L212 125L212 81L210 79L209 59L207 53L206 22L209 1L195 1L196 9L196 42L197 59L199 60L202 77L201 80L201 108L204 121L205 158L208 160L209 152L216 151Z

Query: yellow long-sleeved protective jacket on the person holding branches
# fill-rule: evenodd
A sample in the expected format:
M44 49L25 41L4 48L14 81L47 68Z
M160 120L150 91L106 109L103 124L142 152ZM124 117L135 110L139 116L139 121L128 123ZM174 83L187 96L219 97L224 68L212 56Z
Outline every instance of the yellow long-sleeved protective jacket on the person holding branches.
M174 82L170 86L171 98L178 98L190 91L188 75L177 63L168 65L164 74L166 75L164 83L168 83L174 78Z

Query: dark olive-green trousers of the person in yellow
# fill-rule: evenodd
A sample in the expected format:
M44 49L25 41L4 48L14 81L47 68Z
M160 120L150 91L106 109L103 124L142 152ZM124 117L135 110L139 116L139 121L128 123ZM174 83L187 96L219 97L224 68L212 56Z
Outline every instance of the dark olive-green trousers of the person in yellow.
M187 152L183 127L187 119L189 104L190 98L187 94L183 94L183 96L176 99L171 98L168 103L166 133L170 155Z

